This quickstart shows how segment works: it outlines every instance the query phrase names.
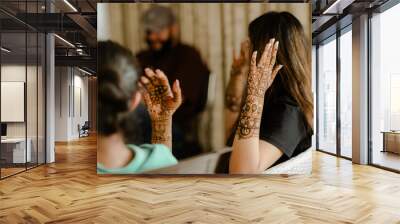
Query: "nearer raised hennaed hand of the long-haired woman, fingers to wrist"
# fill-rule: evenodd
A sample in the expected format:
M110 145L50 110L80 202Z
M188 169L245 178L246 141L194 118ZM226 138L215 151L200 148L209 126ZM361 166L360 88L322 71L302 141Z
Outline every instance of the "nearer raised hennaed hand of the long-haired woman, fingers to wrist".
M257 64L257 51L253 52L247 78L247 95L264 97L282 65L275 65L279 42L270 39Z

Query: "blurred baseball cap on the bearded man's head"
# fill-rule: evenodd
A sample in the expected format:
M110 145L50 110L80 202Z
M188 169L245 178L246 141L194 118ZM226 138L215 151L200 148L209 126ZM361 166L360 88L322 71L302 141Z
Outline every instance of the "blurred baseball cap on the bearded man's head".
M146 31L158 32L175 24L176 18L170 8L153 6L144 13L142 22Z

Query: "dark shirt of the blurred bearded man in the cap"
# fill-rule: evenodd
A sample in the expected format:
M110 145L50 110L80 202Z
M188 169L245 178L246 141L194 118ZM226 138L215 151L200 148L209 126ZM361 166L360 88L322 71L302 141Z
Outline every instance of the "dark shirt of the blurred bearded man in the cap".
M171 85L179 80L183 103L173 116L173 153L178 159L200 153L196 121L207 102L210 75L200 53L191 46L178 43L161 53L141 51L137 58L142 68L162 70Z

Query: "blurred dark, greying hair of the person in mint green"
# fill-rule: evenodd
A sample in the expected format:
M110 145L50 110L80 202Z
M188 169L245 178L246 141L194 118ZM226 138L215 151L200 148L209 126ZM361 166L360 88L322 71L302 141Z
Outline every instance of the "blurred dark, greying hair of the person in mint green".
M98 131L116 133L137 91L140 68L132 52L112 41L98 43Z

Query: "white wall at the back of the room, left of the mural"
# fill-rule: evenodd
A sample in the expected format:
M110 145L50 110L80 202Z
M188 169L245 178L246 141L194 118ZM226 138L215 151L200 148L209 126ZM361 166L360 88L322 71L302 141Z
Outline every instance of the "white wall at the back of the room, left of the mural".
M88 120L88 77L83 75L76 68L56 67L55 141L79 138L78 124Z

